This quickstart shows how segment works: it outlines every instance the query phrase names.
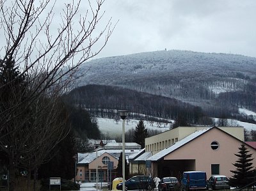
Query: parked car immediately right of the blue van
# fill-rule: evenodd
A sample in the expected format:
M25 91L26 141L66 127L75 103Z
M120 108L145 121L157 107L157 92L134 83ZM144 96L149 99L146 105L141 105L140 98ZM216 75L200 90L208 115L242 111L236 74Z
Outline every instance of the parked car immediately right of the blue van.
M209 180L207 180L207 188L211 188L212 190L217 189L230 189L230 185L228 185L227 176L223 175L212 175Z

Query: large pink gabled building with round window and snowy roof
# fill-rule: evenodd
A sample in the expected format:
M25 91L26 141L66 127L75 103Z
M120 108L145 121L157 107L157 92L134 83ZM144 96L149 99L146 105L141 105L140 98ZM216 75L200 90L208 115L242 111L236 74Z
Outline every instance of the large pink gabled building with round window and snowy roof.
M180 177L184 171L205 171L207 177L211 174L230 177L230 170L235 170L232 164L237 160L234 154L241 144L246 145L252 158L256 157L255 148L214 126L184 137L147 160L151 161L152 176ZM256 159L252 163L256 167Z

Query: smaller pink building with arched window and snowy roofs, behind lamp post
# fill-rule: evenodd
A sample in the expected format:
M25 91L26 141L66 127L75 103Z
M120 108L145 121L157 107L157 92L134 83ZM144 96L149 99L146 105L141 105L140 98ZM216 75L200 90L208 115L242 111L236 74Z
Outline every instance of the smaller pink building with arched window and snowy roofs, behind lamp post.
M112 142L99 148L93 153L77 153L77 174L76 181L93 181L97 180L99 183L109 182L116 178L116 168L118 165L118 158L122 153L122 143ZM133 157L140 155L144 149L140 149L141 146L137 143L127 142L125 143L125 158L131 160Z

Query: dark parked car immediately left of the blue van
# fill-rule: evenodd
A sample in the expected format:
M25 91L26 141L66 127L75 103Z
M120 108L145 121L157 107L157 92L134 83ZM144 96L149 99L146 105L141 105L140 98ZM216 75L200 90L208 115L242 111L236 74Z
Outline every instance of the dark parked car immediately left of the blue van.
M179 180L176 177L164 177L158 183L158 191L179 190Z

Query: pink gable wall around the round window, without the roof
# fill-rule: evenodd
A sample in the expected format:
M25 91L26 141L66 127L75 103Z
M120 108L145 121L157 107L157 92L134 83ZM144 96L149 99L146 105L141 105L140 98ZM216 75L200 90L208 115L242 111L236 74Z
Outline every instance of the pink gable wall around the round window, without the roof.
M220 146L217 150L211 148L212 141L219 143ZM234 154L239 151L238 148L241 146L241 143L241 141L225 132L213 128L176 151L166 155L164 160L195 159L195 170L207 172L207 178L211 176L211 164L220 164L220 174L230 177L232 176L230 170L235 170L232 164L237 160ZM246 148L253 154L252 158L255 158L255 149L250 146L246 146ZM252 163L256 167L255 159L253 159Z

